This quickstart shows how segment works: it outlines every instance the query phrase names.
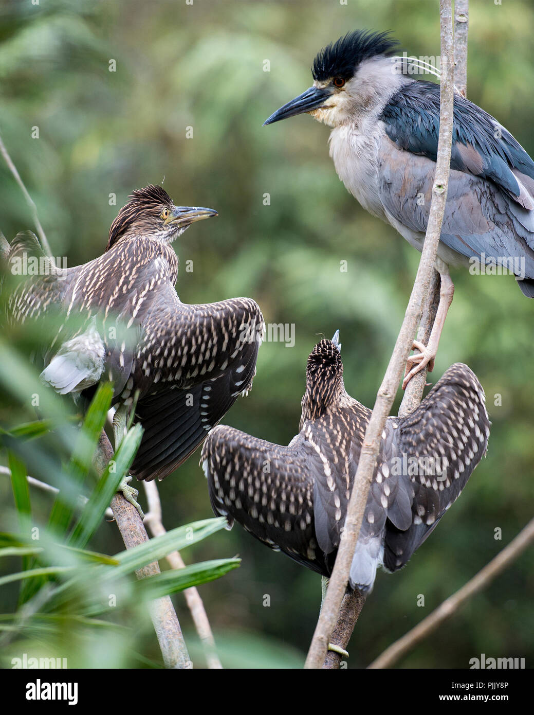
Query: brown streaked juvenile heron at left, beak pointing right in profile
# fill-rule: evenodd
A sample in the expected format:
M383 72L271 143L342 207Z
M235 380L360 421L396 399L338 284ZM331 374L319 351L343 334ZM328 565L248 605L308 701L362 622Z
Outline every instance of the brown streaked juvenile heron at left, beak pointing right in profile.
M15 321L45 312L63 321L46 353L45 383L76 398L112 380L116 442L134 405L144 429L130 470L138 479L171 473L252 386L263 326L254 300L187 305L174 288L172 242L211 216L175 206L160 186L139 189L112 223L104 255L25 280L11 296ZM37 247L19 234L8 260Z

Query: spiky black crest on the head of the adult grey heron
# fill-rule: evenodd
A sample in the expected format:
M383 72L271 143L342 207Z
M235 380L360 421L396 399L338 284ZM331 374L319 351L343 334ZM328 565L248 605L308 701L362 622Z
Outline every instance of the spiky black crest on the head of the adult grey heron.
M349 79L360 62L379 54L389 57L395 53L397 46L397 40L390 36L389 31L349 32L317 54L312 66L313 79L318 79L320 82L330 77Z

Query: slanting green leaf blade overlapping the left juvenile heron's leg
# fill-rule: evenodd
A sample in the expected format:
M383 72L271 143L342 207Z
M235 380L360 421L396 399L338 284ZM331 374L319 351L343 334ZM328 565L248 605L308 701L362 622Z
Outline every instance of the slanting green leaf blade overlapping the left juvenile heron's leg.
M142 435L143 430L141 425L134 425L127 435L125 435L114 456L114 471L111 471L111 467L108 465L102 477L98 480L71 534L69 540L71 546L78 548L85 546L100 523L102 523L104 512L109 506L109 502L112 501L120 480L128 473L132 465L134 456L141 443Z

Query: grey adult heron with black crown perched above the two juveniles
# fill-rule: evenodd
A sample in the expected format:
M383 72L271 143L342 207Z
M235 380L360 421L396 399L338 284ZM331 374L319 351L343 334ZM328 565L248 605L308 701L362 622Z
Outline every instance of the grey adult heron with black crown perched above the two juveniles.
M332 127L338 176L372 215L422 250L435 173L440 88L407 74L387 33L355 31L317 54L313 86L265 124L307 112ZM448 266L511 272L534 297L534 162L483 109L455 94L447 205L435 267L440 305L428 345L414 343L403 387L432 369L454 285Z

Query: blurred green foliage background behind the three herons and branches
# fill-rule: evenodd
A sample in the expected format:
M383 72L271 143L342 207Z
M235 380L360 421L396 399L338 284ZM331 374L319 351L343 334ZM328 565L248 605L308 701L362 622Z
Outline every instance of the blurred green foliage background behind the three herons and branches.
M272 127L262 122L310 86L317 51L352 29L391 29L401 51L439 55L438 4L191 2L46 0L34 6L4 0L0 132L53 254L66 256L68 265L103 252L127 195L149 182L164 182L177 204L217 209L217 219L195 225L174 245L182 267L187 260L194 266L193 272L182 268L177 290L184 302L247 295L267 322L295 325L294 347L262 345L252 392L223 420L287 444L298 430L307 355L322 335L340 330L347 390L372 406L419 254L347 194L328 156L327 127L307 115ZM468 97L530 155L533 30L528 0L470 2ZM39 138L32 138L35 127ZM116 205L110 205L111 194ZM11 240L26 228L34 229L31 213L0 161L0 229ZM455 300L429 379L435 383L456 361L475 370L493 422L488 457L407 568L378 574L352 637L350 668L366 666L415 626L532 516L534 303L510 277L456 271L453 280ZM13 339L9 332L0 335ZM34 418L29 405L4 390L2 427ZM198 456L159 485L167 528L211 516ZM46 520L49 496L31 495L34 511ZM6 531L13 528L14 506L4 475L0 505ZM494 538L495 529L502 540ZM120 551L117 526L102 523L90 546ZM200 589L223 663L302 666L319 611L320 577L239 526L184 557L189 563L236 554L240 568ZM17 566L16 559L2 564L7 572ZM533 566L530 549L399 666L468 668L482 653L532 664ZM419 594L424 607L417 606ZM264 606L266 595L270 606ZM183 596L174 602L195 665L202 667ZM15 607L16 588L3 588L0 611ZM104 657L111 647L104 636L79 641L76 654L68 635L58 638L79 666L139 667L159 659L149 626L134 628L124 648L108 651L115 659ZM16 650L24 647L23 638Z

